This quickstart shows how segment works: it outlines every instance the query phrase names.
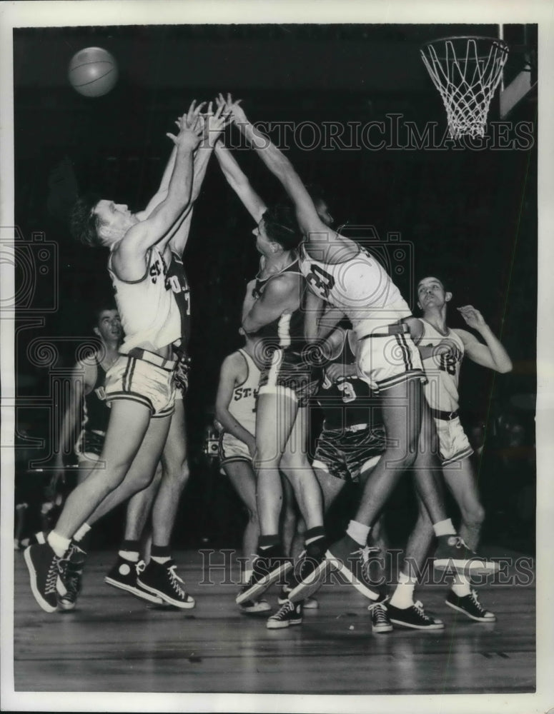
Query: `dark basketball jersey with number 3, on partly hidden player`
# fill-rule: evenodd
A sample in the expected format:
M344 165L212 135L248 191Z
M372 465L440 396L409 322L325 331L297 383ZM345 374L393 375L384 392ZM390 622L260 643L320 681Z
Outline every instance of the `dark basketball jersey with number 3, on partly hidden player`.
M350 348L348 336L345 336L340 354L330 364L353 363L355 355ZM325 429L342 431L360 424L368 424L370 428L382 424L379 400L367 382L357 376L332 382L325 371L316 398L323 411Z

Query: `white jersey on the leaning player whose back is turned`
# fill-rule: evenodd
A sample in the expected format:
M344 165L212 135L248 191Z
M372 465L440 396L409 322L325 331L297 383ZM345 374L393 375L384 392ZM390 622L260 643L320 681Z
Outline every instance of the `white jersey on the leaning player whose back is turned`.
M300 248L300 270L310 289L345 312L358 339L412 313L376 258L360 248L344 263L322 263Z

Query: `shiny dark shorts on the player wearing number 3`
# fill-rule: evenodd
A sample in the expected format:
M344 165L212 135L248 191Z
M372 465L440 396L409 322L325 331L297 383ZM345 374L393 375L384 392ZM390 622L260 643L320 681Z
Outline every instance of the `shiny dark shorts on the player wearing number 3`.
M385 428L359 424L344 431L325 429L317 438L313 468L342 481L359 481L360 473L375 466L385 451Z

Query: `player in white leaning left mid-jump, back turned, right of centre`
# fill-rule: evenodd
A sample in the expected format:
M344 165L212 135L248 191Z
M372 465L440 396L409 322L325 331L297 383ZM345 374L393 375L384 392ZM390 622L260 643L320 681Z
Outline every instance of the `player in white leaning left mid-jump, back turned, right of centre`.
M429 433L421 430L422 418L430 419L422 408L425 375L409 328L401 323L402 318L410 316L410 310L377 260L322 221L290 161L254 128L242 107L230 96L227 106L234 124L295 204L304 238L301 269L315 296L306 309L322 312L324 301L328 301L338 314L345 313L350 318L360 342L360 376L382 400L387 449L367 480L360 507L345 537L327 550L327 560L318 569L320 574L327 567L340 569L367 598L378 600L380 593L366 577L360 548L402 473L413 465L418 448L429 451L427 443L419 443L420 432L424 436ZM418 469L414 476L438 538L435 567L445 568L452 563L460 569L471 566L495 570L494 563L475 558L456 534L447 516L440 476L432 469ZM291 599L301 600L318 586L317 578L310 575L310 583L300 583Z

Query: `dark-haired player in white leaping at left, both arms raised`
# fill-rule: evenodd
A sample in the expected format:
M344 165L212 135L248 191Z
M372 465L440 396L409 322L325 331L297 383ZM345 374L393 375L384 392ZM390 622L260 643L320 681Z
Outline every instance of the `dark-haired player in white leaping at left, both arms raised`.
M194 150L204 131L201 108L193 102L177 121L177 136L167 135L175 145L167 193L154 196L144 213L133 214L127 206L97 197L81 201L74 212L74 220L81 218L82 241L110 250L119 313L124 328L133 332L126 333L122 347L126 352L107 375L112 413L101 456L106 469L94 471L71 493L47 542L25 551L31 590L46 612L56 610L56 593L65 590L62 559L71 538L82 537L86 522L111 494L113 507L152 481L167 438L174 404L174 348L182 338L181 311L174 297L179 287L166 280L172 259L169 242L179 233L191 206ZM210 111L205 121L204 144L209 149L224 126L221 114L221 108L215 114ZM142 291L167 319L170 330L156 322L147 305L142 316L134 311L131 301L141 301Z

